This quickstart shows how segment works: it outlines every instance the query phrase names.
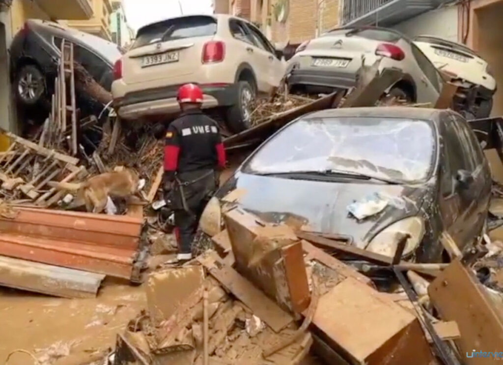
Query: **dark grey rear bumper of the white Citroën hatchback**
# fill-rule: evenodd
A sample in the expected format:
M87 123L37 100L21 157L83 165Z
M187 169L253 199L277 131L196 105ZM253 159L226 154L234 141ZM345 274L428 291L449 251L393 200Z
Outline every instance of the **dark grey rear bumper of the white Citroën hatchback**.
M356 85L356 75L332 70L294 69L288 78L290 87L296 85L349 89Z

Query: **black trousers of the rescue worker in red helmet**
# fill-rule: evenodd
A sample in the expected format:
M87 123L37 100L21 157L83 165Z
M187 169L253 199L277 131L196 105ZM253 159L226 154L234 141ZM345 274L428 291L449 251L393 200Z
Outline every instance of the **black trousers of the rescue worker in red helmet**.
M199 219L217 186L213 170L196 170L177 175L172 203L179 253L192 252Z

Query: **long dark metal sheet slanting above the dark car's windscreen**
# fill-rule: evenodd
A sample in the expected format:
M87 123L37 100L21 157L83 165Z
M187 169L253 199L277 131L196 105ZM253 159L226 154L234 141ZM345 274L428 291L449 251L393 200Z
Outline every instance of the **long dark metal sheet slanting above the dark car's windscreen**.
M283 113L279 113L275 116L272 116L271 118L269 118L269 120L265 121L264 123L261 123L259 125L256 125L255 127L251 127L240 133L225 138L223 140L225 148L227 149L237 143L242 142L243 140L251 140L255 138L259 138L259 140L265 139L269 135L271 135L275 130L281 128L283 125L294 120L295 118L298 118L306 113L322 109L329 109L333 105L337 105L338 104L337 100L340 101L342 97L343 92L332 93L317 100L314 100L309 104L301 105L297 108L293 108Z

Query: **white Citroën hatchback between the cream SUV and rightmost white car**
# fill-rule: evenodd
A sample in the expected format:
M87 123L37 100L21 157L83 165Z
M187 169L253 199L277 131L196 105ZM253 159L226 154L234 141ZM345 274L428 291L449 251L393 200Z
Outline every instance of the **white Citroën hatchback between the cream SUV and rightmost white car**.
M349 89L357 71L382 58L379 70L400 68L402 80L389 93L411 102L435 104L442 77L425 54L406 36L392 29L345 27L301 44L287 67L292 91L323 93Z

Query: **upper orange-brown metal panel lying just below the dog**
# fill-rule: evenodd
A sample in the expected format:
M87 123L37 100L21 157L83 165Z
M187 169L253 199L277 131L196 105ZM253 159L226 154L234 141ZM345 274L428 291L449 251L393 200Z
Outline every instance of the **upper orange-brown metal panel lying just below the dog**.
M14 219L0 216L0 232L136 250L142 219L55 209L19 208Z

